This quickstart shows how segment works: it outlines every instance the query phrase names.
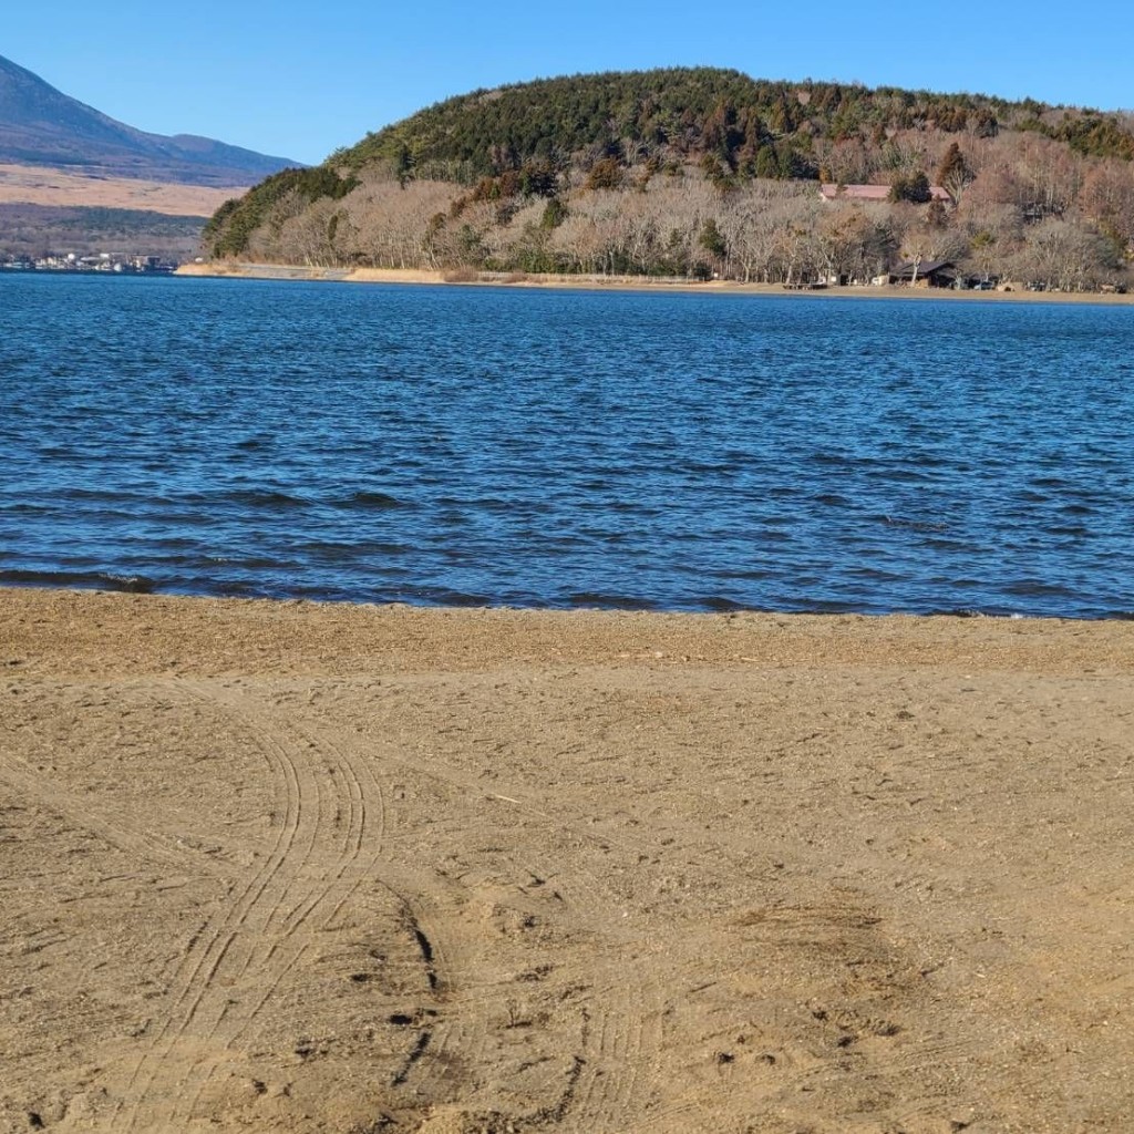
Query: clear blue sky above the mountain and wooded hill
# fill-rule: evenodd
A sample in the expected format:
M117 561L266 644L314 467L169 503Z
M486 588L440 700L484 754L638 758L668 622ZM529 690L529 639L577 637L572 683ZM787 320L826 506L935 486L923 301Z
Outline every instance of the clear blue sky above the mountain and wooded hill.
M307 162L475 87L677 65L1128 109L1132 44L1132 0L5 0L0 20L0 54L132 126Z

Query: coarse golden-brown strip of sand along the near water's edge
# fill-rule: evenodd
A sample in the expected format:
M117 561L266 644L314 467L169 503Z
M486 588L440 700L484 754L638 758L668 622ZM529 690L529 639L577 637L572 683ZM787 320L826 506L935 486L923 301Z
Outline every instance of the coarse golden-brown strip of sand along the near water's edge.
M518 607L424 607L408 603L318 601L310 599L220 598L136 593L79 587L0 584L0 615L12 657L0 658L22 672L34 657L52 665L70 657L115 668L139 659L138 643L126 652L108 636L101 615L124 621L169 618L179 632L178 665L196 654L226 657L242 665L259 662L281 671L314 665L341 672L350 657L369 655L369 635L375 627L395 637L405 633L415 648L429 636L469 640L486 635L475 650L460 649L450 659L522 657L528 662L553 662L564 655L564 641L591 661L644 661L699 665L750 665L790 659L794 663L939 665L958 658L985 668L1043 663L1059 672L1128 672L1134 676L1134 620L1063 617L966 616L950 613L809 613L758 610L653 611L600 608L545 609ZM60 613L66 615L58 621ZM230 633L218 634L212 624ZM340 657L286 649L288 624L316 628L320 649L335 641ZM151 627L156 629L156 627ZM243 637L252 633L249 644ZM329 635L329 637L328 637ZM689 643L696 642L696 653ZM279 654L263 657L269 642ZM163 646L156 652L166 665ZM251 651L251 652L249 652ZM12 660L16 658L16 660ZM439 655L430 654L431 660ZM172 662L169 662L172 665Z

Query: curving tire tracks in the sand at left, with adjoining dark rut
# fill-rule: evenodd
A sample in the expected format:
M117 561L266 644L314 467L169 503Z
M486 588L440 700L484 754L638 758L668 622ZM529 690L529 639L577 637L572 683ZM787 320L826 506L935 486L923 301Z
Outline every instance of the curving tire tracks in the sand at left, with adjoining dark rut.
M395 899L406 951L420 954L423 992L441 996L449 983L443 950L425 936L415 905L383 877L389 873L381 863L386 804L370 762L290 719L274 722L270 710L221 684L177 685L220 705L265 753L282 789L282 821L261 869L181 958L170 1018L128 1084L134 1098L121 1120L129 1131L185 1128L213 1117L201 1114L205 1092L313 941L349 909L364 883ZM395 1085L405 1083L428 1044L428 1038L407 1036Z

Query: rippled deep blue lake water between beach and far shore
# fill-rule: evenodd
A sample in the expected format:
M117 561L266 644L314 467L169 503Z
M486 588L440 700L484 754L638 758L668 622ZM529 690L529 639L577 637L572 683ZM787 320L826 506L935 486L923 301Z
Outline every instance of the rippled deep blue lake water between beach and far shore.
M1134 611L1134 307L0 276L0 583Z

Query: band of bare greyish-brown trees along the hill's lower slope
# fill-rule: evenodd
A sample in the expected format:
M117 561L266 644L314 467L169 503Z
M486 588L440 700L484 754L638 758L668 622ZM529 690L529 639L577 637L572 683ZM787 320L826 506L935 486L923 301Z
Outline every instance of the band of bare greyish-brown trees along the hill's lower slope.
M824 203L805 183L721 193L697 171L626 189L475 201L441 181L373 174L259 229L247 259L319 266L640 274L745 282L868 281L894 264L951 260L970 274L1088 290L1125 280L1122 245L1077 211L1026 220L974 195L951 211ZM1134 223L1134 193L1124 223Z

